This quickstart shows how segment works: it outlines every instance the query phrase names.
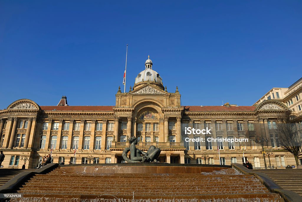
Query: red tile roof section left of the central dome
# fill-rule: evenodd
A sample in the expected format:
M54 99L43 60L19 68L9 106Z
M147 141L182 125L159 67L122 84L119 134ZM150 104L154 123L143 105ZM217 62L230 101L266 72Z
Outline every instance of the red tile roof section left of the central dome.
M44 111L113 111L114 106L40 106Z

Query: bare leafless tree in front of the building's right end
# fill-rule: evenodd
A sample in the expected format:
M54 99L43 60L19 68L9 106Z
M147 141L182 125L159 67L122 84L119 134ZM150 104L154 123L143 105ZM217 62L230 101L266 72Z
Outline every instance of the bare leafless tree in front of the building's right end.
M284 115L278 117L274 133L275 137L278 137L280 147L291 152L295 157L296 164L299 165L298 156L302 147L302 124L291 123L290 116Z

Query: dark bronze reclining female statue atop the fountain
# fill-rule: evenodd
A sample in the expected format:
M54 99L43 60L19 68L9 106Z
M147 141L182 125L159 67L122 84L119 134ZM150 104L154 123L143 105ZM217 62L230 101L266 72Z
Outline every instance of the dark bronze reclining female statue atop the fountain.
M140 149L137 149L135 145L137 145L137 138L130 137L129 138L130 147L127 147L123 151L123 158L128 163L136 163L136 162L157 162L156 159L159 157L160 149L155 146L150 146L147 152L143 152ZM130 151L130 157L128 158L127 154Z

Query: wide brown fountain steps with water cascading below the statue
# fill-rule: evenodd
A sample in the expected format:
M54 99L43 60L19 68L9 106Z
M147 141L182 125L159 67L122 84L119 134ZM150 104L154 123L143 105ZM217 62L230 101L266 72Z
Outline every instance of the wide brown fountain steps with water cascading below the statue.
M259 201L283 202L253 175L234 168L200 174L77 173L64 167L35 175L18 190L23 199L13 201ZM56 200L51 198L56 197ZM135 200L133 200L133 198ZM49 200L47 200L49 199ZM215 199L215 200L214 200ZM41 200L42 201L42 200ZM173 201L175 202L175 201Z

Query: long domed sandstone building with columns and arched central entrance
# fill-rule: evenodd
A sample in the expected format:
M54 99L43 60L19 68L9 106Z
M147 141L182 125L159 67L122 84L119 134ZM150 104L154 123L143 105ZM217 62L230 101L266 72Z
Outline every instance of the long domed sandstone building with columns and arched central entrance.
M264 159L273 168L295 164L294 157L282 150L278 137L272 135L277 118L290 111L282 102L181 106L178 88L168 92L152 66L152 61L146 60L129 92L118 89L114 106L68 106L66 96L56 106L39 106L28 99L13 102L0 111L2 165L21 168L25 161L26 168L36 168L52 148L53 162L120 163L130 136L139 139L139 149L159 147L160 162L230 165L242 162L244 155L256 168L265 167ZM197 136L187 136L185 127L210 128L211 135L200 135L204 138L247 137L250 141L187 143L186 137ZM266 156L256 143L264 135Z

